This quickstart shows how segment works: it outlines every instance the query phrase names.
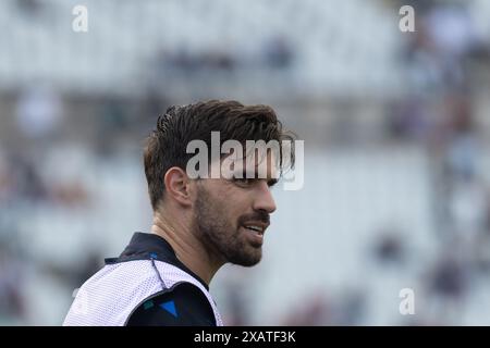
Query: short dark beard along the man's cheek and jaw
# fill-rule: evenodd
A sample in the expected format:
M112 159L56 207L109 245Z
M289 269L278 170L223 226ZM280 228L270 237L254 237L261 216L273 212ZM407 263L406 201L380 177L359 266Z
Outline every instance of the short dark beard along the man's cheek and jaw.
M245 236L221 215L225 203L213 201L210 195L198 187L195 203L195 234L211 253L218 253L226 262L243 266L257 264L261 257L261 248L255 248L245 240Z

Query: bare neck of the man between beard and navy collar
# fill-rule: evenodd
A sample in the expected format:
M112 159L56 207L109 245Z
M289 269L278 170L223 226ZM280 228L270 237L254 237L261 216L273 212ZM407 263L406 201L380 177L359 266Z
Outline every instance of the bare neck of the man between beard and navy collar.
M213 258L195 237L191 226L167 219L166 214L155 213L151 233L164 238L176 258L206 284L211 282L216 272L224 264Z

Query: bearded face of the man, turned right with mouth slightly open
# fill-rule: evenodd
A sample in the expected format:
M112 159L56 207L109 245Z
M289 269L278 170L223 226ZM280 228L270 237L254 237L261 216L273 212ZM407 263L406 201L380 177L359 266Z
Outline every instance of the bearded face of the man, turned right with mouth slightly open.
M269 214L275 210L270 191L275 183L271 157L269 153L267 158L267 178L246 178L244 174L243 178L197 182L195 233L208 251L225 262L252 266L261 259ZM249 171L245 162L243 171Z

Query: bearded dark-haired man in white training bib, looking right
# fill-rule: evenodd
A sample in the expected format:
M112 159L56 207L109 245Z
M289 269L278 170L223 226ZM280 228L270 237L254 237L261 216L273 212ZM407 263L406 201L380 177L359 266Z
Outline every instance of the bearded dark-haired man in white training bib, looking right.
M275 210L270 186L294 157L286 163L283 148L268 147L208 154L230 141L292 139L267 105L211 100L167 110L144 153L151 233L134 234L119 258L106 259L78 290L64 325L222 325L209 283L226 262L260 261ZM191 175L193 141L207 148L198 176Z

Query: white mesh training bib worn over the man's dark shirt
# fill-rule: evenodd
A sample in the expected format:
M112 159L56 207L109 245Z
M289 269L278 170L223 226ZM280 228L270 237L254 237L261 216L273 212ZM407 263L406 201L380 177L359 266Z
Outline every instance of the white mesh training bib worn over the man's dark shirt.
M123 326L145 299L182 282L203 291L212 308L217 326L223 326L215 301L203 284L181 269L158 260L106 265L78 289L63 326Z

